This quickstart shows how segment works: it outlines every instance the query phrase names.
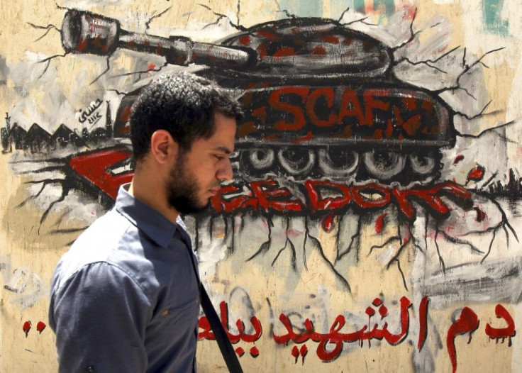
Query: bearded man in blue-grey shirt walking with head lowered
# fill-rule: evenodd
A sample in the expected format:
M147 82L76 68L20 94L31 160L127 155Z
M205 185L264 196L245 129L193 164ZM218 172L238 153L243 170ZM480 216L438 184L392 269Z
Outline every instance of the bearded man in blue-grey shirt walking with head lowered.
M194 372L197 258L179 217L232 178L237 101L193 74L165 74L133 104L135 174L52 279L60 372Z

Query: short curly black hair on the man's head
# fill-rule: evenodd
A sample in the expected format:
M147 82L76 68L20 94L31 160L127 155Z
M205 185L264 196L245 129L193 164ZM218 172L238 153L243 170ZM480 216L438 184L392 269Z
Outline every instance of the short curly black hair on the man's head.
M150 150L156 130L167 130L182 150L216 132L215 113L243 117L237 100L209 79L187 72L162 74L143 89L130 111L130 140L135 161Z

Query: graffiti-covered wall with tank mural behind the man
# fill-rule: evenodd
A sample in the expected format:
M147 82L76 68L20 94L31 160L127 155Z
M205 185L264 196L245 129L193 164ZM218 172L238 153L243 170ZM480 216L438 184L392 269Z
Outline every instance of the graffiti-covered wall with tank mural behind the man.
M33 343L15 355L56 369L52 269L132 179L140 89L186 70L245 109L233 181L184 217L245 371L516 371L517 7L474 1L467 24L469 4L428 2L70 1L9 19L30 34L0 56L3 322ZM203 372L224 366L213 339L201 313Z

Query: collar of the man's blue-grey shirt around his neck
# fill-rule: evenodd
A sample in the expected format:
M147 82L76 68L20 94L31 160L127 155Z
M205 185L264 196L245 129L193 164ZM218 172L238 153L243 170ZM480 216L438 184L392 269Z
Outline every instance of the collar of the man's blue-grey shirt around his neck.
M154 208L130 195L128 193L129 186L130 183L123 184L118 190L115 205L116 211L125 216L134 226L143 230L155 243L167 248L174 233L176 233L177 224L172 223ZM177 223L180 226L184 225L179 216Z

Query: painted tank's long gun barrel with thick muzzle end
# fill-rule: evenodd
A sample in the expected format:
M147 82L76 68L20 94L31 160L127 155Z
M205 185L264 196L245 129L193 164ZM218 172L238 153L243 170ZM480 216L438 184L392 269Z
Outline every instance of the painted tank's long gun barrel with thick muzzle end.
M244 67L255 62L254 52L240 48L198 43L185 37L163 38L145 33L123 30L113 18L70 10L62 22L62 45L66 52L77 54L111 55L123 48L165 57L173 65Z

